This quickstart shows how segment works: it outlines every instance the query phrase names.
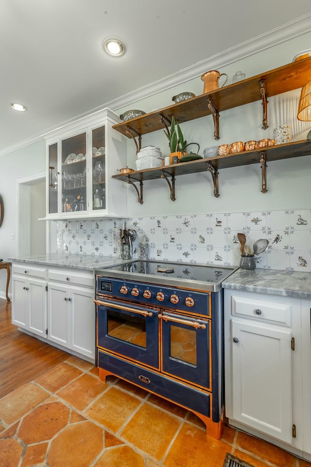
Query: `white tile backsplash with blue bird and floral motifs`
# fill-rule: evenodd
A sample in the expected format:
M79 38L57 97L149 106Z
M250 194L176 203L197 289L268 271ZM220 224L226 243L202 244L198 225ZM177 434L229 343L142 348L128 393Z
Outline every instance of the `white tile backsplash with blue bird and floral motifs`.
M145 235L149 259L238 266L240 232L250 252L259 238L269 240L257 268L311 272L310 209L132 217L126 225L137 231L134 258ZM57 251L118 257L122 227L123 219L57 222Z

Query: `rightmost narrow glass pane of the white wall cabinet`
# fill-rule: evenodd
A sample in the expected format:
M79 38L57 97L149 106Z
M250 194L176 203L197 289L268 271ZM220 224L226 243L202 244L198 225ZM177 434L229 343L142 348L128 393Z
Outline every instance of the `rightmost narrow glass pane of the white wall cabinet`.
M105 127L92 130L93 209L105 209Z

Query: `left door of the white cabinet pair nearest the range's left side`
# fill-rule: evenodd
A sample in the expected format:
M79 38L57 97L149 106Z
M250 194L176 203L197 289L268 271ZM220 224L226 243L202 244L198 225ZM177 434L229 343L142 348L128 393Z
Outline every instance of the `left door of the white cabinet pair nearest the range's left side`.
M69 287L48 284L48 339L69 347Z

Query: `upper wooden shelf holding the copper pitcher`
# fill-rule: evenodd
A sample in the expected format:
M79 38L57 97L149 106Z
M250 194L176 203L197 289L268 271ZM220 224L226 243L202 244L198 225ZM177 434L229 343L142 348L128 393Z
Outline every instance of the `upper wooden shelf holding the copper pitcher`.
M136 136L163 129L164 126L160 120L160 115L163 115L170 122L172 116L174 116L178 123L210 115L211 110L207 106L209 98L213 100L219 112L259 101L262 100L260 91L260 82L262 80L265 83L266 97L302 88L311 80L311 57L297 60L283 67L258 74L238 83L230 84L224 88L192 97L187 101L155 110L141 117L114 125L113 128L131 138L133 136L128 133L128 127L134 130Z

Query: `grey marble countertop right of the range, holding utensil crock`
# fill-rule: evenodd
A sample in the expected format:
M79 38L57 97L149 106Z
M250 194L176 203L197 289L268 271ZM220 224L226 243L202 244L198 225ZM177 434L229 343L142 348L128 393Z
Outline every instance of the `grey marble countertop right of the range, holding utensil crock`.
M222 283L223 288L311 299L311 273L275 269L238 269Z

